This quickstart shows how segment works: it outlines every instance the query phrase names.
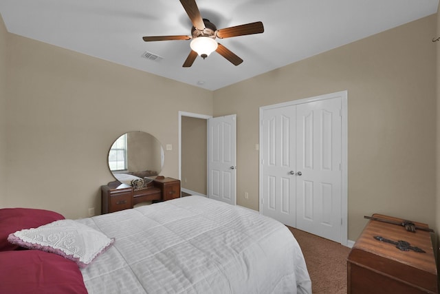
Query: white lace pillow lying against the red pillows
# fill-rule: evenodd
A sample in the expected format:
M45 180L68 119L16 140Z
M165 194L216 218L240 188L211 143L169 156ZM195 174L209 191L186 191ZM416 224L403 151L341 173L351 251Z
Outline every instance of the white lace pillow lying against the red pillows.
M8 241L28 249L62 255L84 268L104 252L114 239L74 220L57 220L36 229L11 233Z

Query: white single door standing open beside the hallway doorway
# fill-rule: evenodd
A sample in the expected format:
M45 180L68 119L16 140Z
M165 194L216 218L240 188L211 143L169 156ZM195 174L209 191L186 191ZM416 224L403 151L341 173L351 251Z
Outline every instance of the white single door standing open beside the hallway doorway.
M236 115L208 119L208 198L236 204Z

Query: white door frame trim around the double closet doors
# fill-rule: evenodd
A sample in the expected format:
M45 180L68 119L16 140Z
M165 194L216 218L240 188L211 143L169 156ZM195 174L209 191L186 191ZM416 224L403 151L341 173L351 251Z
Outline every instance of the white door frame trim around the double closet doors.
M314 101L322 101L331 98L341 98L342 110L341 110L341 123L342 123L342 154L341 154L341 240L340 243L344 246L348 246L348 91L340 91L331 94L324 94L320 96L314 96L309 98L298 99L294 101L288 101L283 103L278 103L274 105L267 105L260 107L260 116L259 116L259 146L263 146L263 128L261 127L261 119L263 118L263 111L266 109L279 108L291 105L298 105L303 103L310 103ZM260 148L259 151L259 211L263 213L263 207L261 205L261 201L263 200L263 167L261 164L262 160L262 151Z

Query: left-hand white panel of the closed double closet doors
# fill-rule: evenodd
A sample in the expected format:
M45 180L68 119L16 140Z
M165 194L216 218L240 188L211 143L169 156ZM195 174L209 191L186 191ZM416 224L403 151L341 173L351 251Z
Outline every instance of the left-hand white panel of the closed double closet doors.
M261 211L265 216L296 227L296 106L265 110L261 127Z

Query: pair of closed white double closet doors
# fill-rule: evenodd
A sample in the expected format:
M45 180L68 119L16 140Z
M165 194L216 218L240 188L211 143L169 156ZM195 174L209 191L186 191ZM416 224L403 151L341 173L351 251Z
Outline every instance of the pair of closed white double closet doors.
M346 205L341 93L347 95L262 107L260 114L260 212L336 242Z

